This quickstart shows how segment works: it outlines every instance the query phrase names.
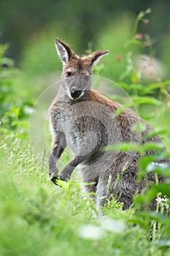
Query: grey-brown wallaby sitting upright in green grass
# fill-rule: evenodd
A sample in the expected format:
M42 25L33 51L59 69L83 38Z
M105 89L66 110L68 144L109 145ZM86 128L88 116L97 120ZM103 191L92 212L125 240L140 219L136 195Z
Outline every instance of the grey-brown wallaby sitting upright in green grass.
M74 168L82 164L82 181L86 191L93 195L97 208L105 206L112 197L123 202L124 209L129 208L135 193L143 192L147 183L145 178L137 181L140 154L107 151L106 147L121 142L161 143L161 140L158 136L146 138L152 130L146 121L130 109L117 113L121 108L117 102L91 89L93 67L109 50L97 50L80 58L59 39L55 39L55 46L63 62L63 72L60 89L49 109L53 132L49 159L51 180L55 184L58 179L68 180ZM134 131L136 122L145 126L142 132ZM56 163L66 146L72 149L74 157L59 175ZM155 175L150 173L148 181L155 182ZM159 181L164 178L159 176ZM155 208L154 202L151 208Z

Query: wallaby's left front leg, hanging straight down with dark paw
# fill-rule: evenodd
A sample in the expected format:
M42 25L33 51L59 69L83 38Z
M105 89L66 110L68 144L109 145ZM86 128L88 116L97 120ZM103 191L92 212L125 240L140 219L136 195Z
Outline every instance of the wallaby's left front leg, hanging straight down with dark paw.
M51 181L53 181L55 184L55 180L58 178L58 168L56 167L56 163L61 157L64 148L66 148L66 138L63 133L59 133L55 139L55 142L53 143L53 149L50 152L49 157L49 175L53 176Z

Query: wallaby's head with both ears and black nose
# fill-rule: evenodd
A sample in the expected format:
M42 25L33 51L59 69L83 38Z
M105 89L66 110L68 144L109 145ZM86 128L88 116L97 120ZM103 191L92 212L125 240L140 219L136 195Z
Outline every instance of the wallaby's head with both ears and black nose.
M109 50L96 50L89 56L80 58L69 45L61 42L58 38L55 39L55 46L63 62L61 90L70 99L79 99L86 91L90 90L90 75L93 67L104 55L109 53Z

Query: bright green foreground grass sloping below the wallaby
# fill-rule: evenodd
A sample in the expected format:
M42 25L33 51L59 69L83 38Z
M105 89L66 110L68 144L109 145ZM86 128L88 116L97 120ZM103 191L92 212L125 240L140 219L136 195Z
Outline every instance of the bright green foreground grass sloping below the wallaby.
M109 203L104 210L108 228L107 222L97 222L80 184L61 188L50 182L28 142L4 137L0 149L1 256L162 255L147 240L147 231L129 222L133 209Z

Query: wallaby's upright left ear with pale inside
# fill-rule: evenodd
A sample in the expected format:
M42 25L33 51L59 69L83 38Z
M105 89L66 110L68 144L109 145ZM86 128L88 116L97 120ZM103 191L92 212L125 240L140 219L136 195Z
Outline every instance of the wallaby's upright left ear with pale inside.
M55 47L61 61L63 64L66 64L72 56L72 50L70 49L69 45L66 45L65 42L61 42L58 38L55 38Z

